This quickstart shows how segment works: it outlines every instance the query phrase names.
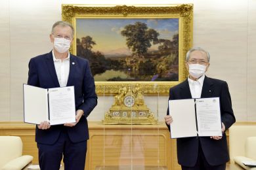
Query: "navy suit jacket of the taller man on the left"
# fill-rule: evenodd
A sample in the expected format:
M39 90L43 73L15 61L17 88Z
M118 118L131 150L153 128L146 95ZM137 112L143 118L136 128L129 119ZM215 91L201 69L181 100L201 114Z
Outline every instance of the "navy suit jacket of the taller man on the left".
M40 88L60 87L54 68L52 52L30 59L28 84ZM70 74L67 86L74 86L75 109L83 110L84 115L81 116L81 119L74 127L56 125L43 130L38 129L36 126L35 141L37 143L53 144L58 139L62 129L68 131L68 136L74 143L89 139L86 118L97 105L97 96L95 93L95 81L91 75L87 59L70 54Z

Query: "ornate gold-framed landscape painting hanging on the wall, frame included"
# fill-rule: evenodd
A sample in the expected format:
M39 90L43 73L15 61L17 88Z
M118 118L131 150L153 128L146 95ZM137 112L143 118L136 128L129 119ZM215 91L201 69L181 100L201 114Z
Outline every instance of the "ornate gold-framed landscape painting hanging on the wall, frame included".
M77 56L81 56L81 52L91 52L95 57L93 61L98 59L96 62L102 64L98 66L98 63L90 62L92 73L95 77L97 72L100 75L104 71L111 69L114 74L120 72L124 67L127 69L125 74L129 74L129 78L121 78L119 76L108 80L96 80L95 78L96 93L99 95L117 93L121 86L134 86L135 84L142 86L143 93L167 94L169 88L182 82L188 75L184 63L186 52L192 47L193 5L191 4L136 6L62 5L62 20L70 22L75 29L75 41L70 48L70 52ZM157 26L154 27L148 24L150 22L154 22ZM120 23L125 24L120 26ZM169 36L169 38L163 39L163 32L171 32L168 24L171 25L173 23L177 24L174 29L176 35L172 34L173 37ZM90 26L90 24L91 27L85 27L84 29L81 26ZM113 26L111 31L119 30L119 38L121 37L123 44L127 45L127 49L129 48L129 54L125 54L122 51L123 54L120 53L122 57L116 57L112 54L112 58L107 58L107 52L102 52L102 48L99 48L100 50L95 50L96 48L93 49L95 51L92 50L94 46L100 45L101 42L103 43L101 40L95 42L95 37L92 34L105 33L105 35L110 36L110 32L106 31L110 29L109 25ZM119 27L116 25L119 25ZM131 42L131 32L134 32L131 30L138 27L140 27L138 33L145 32L144 35L146 41L148 41L144 40L144 46L139 47L135 46L138 43L132 44ZM141 31L142 27L144 29ZM81 32L83 32L81 30L89 30L89 28L93 32L84 33L81 37ZM98 29L104 31L99 31ZM138 37L138 35L136 36ZM106 39L112 42L116 41L114 42L116 45L120 44L114 37ZM89 42L89 44L85 42ZM143 45L142 42L139 42L139 44ZM174 48L176 51L173 50ZM170 60L170 58L172 59ZM106 65L110 65L114 69L110 68L110 66L105 68Z

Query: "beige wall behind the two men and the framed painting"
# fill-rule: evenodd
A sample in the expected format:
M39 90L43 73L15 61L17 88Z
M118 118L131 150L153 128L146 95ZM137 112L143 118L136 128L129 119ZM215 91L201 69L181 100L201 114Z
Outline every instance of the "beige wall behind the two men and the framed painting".
M228 82L238 121L256 121L256 1L112 1L111 4L194 3L194 46L211 54L208 76ZM51 26L61 20L62 3L89 4L91 1L1 0L0 1L0 121L22 121L22 84L28 78L28 61L49 52ZM109 4L108 1L93 1ZM167 109L167 96L159 97L159 119ZM158 97L146 97L156 112ZM89 120L102 120L112 97L99 97Z

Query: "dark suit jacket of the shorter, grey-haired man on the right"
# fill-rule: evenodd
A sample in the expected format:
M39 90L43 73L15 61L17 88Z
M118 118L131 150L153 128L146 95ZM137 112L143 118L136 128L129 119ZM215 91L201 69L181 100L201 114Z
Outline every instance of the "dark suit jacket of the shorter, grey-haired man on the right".
M226 129L236 122L226 82L205 76L201 97L220 97L221 121ZM191 98L188 79L170 89L169 100ZM167 110L167 115L169 115L169 109ZM184 128L186 128L186 125L184 125ZM223 137L219 141L210 139L210 137L185 137L177 139L179 164L188 167L193 167L196 164L199 141L203 154L210 165L221 165L229 160L226 134L223 133Z

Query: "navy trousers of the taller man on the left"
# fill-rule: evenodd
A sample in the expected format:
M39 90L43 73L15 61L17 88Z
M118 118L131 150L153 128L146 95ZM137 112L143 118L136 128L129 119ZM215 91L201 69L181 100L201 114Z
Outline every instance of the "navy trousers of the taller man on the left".
M87 141L72 143L66 129L62 129L54 144L37 143L41 170L58 170L63 156L65 170L84 170Z

